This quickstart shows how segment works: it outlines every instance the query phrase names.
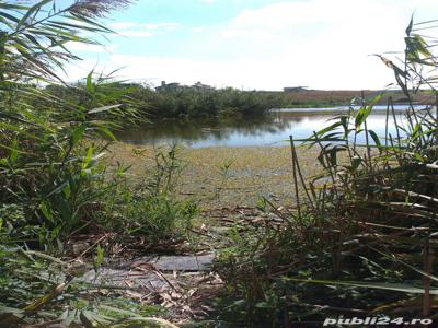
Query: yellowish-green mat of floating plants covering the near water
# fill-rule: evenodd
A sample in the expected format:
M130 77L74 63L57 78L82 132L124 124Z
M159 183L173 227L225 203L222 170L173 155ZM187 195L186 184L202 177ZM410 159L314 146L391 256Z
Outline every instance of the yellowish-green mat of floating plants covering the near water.
M178 177L181 198L196 199L203 209L249 206L261 198L278 206L295 202L290 147L178 147L184 169ZM163 150L170 149L162 147ZM129 165L132 180L154 167L153 147L116 142L110 148L112 163ZM319 150L299 149L303 174L322 171L315 161Z

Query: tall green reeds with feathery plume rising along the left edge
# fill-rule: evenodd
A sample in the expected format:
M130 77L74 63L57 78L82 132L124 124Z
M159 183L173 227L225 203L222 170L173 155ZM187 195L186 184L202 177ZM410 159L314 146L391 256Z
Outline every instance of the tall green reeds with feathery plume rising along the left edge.
M22 208L21 223L4 219L22 243L62 248L60 241L90 222L90 208L112 187L104 187L100 161L106 144L91 141L114 138L102 113L116 114L120 106L101 106L103 94L105 102L110 97L107 90L100 90L102 79L95 83L89 74L87 101L80 106L35 83L61 83L58 71L77 59L67 44L95 43L79 32L111 32L93 17L117 3L127 2L1 4L0 197L4 204Z

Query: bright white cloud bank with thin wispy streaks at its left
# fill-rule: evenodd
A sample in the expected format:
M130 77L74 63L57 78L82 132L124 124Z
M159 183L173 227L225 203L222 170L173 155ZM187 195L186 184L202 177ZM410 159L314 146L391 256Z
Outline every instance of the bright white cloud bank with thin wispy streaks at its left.
M434 19L431 0L301 0L242 11L220 26L192 27L183 55L150 57L114 54L105 66L124 69L120 78L149 81L203 81L217 86L280 90L381 89L392 72L370 54L403 50L404 28L416 10L417 20ZM115 23L125 35L166 33L177 23ZM196 36L198 35L198 36ZM181 52L180 52L181 54ZM93 65L94 62L89 62ZM94 63L95 65L95 63ZM73 68L71 73L84 75Z

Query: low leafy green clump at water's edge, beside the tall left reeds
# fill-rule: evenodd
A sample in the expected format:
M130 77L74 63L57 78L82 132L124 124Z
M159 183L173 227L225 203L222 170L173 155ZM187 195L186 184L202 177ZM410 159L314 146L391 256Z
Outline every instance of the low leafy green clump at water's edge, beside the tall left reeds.
M158 149L153 168L135 181L120 176L118 188L106 197L104 224L127 231L128 236L145 236L149 243L182 238L198 213L193 200L177 199L178 177L184 169L176 145Z

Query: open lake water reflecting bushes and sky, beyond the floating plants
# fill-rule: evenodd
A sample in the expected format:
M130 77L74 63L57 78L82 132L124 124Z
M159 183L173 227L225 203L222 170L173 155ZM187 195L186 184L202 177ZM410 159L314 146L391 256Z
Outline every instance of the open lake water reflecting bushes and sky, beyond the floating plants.
M397 121L404 121L405 109L406 106L395 106ZM182 143L194 148L286 145L289 136L307 138L331 125L330 119L345 110L345 107L286 108L273 109L263 118L163 120L119 132L117 137L134 144ZM368 128L378 136L384 136L385 110L387 106L376 106L368 117ZM395 137L395 128L391 124L389 131ZM358 141L364 142L364 138L360 133Z

